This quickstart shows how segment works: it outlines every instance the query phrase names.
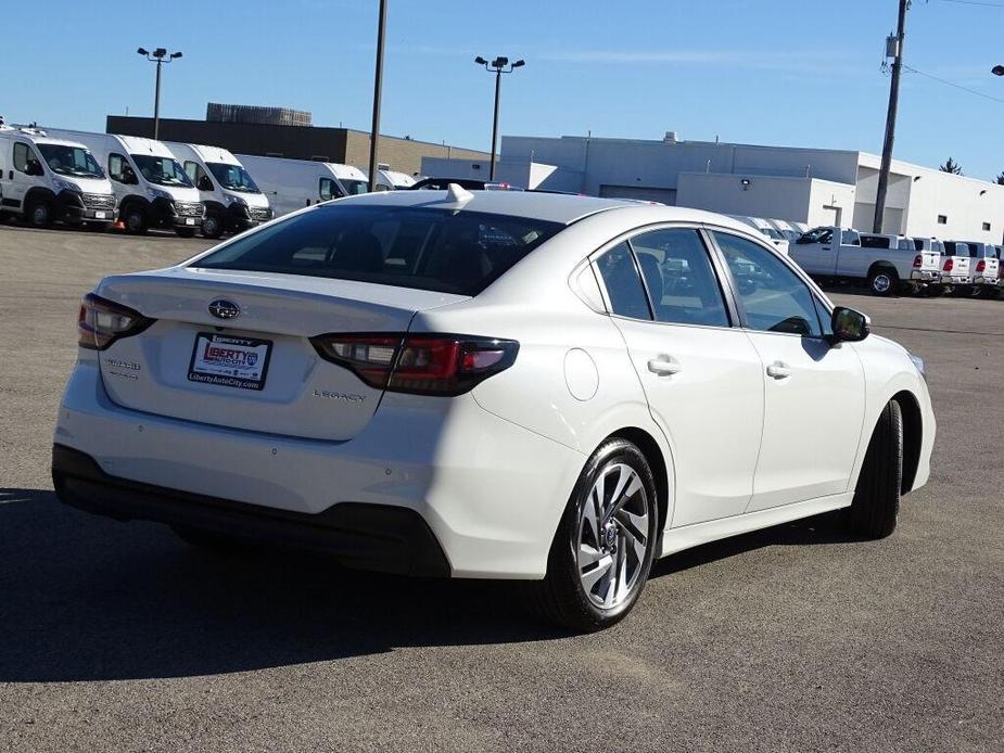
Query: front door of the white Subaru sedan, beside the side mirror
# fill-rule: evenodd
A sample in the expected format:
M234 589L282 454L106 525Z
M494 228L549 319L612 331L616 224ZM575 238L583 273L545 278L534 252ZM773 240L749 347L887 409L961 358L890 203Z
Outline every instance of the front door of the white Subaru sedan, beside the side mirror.
M737 284L747 335L760 356L763 442L747 511L848 489L865 410L864 369L850 343L831 345L829 311L780 257L752 240L714 231Z

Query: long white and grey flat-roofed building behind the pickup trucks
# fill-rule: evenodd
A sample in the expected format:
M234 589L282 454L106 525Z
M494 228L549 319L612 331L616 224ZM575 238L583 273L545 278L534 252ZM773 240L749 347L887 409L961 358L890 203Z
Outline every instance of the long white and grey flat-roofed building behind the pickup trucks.
M880 158L867 152L580 136L506 136L496 179L723 214L870 230ZM487 178L487 161L422 159L437 177ZM884 230L1001 243L1004 186L893 161Z

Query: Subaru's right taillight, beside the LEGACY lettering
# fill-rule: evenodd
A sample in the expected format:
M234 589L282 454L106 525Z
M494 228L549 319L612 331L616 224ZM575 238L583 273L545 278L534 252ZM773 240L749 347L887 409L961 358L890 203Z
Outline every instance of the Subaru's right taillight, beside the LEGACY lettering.
M452 334L322 334L318 355L371 387L420 395L460 395L516 361L514 340Z

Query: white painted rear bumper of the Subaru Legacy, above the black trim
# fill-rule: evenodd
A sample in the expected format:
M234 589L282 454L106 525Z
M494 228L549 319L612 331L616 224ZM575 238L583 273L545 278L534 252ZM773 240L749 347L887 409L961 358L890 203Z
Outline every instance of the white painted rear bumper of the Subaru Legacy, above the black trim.
M366 427L345 442L154 416L112 403L94 358L81 352L54 443L92 458L114 483L157 487L164 499L228 500L247 506L247 514L265 508L303 521L334 514L329 511L342 503L404 508L431 529L455 577L543 577L586 460L485 411L470 395L386 393ZM101 499L100 485L88 489ZM137 507L137 495L116 499L111 511L91 507L161 520ZM268 516L258 520L272 524Z

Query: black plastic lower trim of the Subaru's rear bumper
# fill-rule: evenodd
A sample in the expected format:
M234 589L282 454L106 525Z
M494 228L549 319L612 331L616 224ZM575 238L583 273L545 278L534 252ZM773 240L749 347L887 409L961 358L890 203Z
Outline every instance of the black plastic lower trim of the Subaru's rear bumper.
M319 513L277 510L117 478L63 445L52 447L61 501L116 520L145 520L334 554L351 567L404 575L449 575L435 535L414 510L342 502Z

